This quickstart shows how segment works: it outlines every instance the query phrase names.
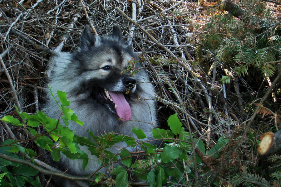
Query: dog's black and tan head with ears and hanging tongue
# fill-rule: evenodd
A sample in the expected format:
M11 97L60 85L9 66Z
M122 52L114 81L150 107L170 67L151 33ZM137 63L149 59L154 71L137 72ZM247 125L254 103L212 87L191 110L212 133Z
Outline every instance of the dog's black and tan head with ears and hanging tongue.
M74 63L79 63L78 75L83 87L122 121L131 119L128 100L144 81L140 76L131 76L128 70L128 65L136 59L131 46L122 41L118 25L113 26L112 35L105 37L91 34L90 27L86 26L80 46L73 55ZM141 67L139 64L134 66Z

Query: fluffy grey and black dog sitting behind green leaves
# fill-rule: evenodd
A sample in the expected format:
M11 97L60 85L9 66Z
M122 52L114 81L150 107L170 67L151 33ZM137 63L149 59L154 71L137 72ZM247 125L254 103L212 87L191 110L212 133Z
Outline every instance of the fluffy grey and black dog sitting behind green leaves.
M140 71L133 76L128 69L137 57L130 44L122 40L120 26L114 25L112 34L104 37L91 34L90 27L85 26L79 48L73 53L60 52L52 60L49 86L54 93L67 93L69 108L84 122L83 126L69 122L68 127L75 134L91 138L89 130L95 136L116 132L136 138L132 129L137 127L146 134L144 141L153 140L151 129L157 127L154 87L141 63L134 63ZM48 97L47 116L58 119L61 111L51 94ZM125 142L115 145L109 151L116 153L116 147L127 146ZM80 148L89 156L85 170L82 160L70 160L63 154L59 169L73 175L89 175L100 167L86 146ZM136 151L132 147L126 149ZM106 168L99 172L106 172ZM64 186L75 184L69 181Z

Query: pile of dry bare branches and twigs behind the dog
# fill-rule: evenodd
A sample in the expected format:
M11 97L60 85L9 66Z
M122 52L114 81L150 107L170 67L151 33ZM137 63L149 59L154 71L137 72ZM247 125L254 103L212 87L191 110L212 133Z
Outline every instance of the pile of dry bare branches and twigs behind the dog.
M27 113L42 108L49 58L75 50L86 24L101 36L119 24L155 85L162 127L177 113L210 147L247 117L239 85L228 97L231 91L219 81L223 71L211 66L203 73L196 64L200 29L209 21L200 9L184 0L0 0L0 117L16 116L14 106ZM24 136L2 121L0 130L0 142Z

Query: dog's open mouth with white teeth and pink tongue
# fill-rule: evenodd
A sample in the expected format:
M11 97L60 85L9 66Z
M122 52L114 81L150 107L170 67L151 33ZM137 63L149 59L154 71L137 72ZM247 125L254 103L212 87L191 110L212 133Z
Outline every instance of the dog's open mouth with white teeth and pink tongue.
M132 117L132 111L130 104L127 102L124 93L111 92L104 89L104 94L100 95L104 100L104 103L111 112L117 113L118 117L122 121L128 121ZM100 97L101 99L101 97Z

